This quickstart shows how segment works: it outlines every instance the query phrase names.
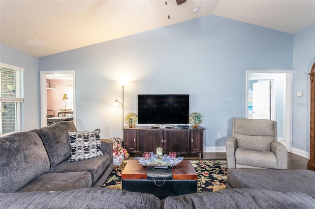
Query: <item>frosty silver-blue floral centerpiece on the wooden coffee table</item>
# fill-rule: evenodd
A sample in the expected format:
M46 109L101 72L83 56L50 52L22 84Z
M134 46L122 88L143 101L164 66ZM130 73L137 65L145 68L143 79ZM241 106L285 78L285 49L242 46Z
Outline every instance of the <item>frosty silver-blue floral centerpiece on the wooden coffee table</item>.
M134 159L138 159L140 165L165 165L165 166L171 166L177 165L181 161L183 161L184 157L175 157L171 158L168 155L164 155L163 157L158 157L157 155L153 154L151 152L150 158L144 158L144 157L135 157Z

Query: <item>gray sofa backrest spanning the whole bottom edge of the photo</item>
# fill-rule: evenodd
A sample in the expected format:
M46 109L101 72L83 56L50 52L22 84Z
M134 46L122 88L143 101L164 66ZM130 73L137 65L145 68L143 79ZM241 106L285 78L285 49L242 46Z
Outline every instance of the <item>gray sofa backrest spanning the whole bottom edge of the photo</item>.
M314 209L304 193L265 189L223 189L159 200L152 194L120 189L0 193L1 209Z

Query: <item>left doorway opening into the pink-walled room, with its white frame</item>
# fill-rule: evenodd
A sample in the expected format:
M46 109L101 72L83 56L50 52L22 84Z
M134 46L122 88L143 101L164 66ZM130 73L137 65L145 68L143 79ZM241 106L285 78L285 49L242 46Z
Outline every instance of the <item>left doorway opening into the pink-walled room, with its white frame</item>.
M53 78L55 77L55 78ZM48 79L51 78L51 79ZM47 115L53 114L54 116L58 115L58 110L50 110L47 111L47 91L54 91L54 83L51 82L53 80L67 80L67 83L70 83L70 87L65 87L62 94L67 94L67 100L63 100L63 104L60 108L64 106L68 106L73 109L73 123L76 123L76 108L75 108L75 71L40 71L40 125L41 127L47 126ZM49 80L49 81L47 81ZM48 83L47 85L47 82ZM56 81L57 82L57 81ZM63 95L60 96L60 100L62 101ZM59 108L59 107L58 107Z

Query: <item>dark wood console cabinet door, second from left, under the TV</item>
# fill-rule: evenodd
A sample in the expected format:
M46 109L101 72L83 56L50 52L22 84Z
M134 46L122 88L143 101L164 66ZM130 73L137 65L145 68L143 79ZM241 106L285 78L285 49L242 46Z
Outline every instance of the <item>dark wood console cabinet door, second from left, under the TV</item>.
M156 154L157 147L162 147L162 130L138 130L139 152L153 152Z

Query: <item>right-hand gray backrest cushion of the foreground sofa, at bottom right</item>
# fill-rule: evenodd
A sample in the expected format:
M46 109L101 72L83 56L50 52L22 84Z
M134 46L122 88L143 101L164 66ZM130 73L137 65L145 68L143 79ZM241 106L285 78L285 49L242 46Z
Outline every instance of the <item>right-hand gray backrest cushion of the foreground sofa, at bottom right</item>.
M223 189L167 197L164 209L311 209L314 196L264 189Z

